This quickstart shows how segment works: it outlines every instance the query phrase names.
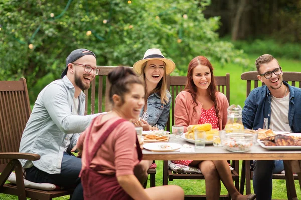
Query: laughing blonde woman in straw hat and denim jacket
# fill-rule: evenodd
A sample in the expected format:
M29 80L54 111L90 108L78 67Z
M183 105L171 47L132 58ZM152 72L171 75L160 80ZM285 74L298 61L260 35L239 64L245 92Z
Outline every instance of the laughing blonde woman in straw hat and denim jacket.
M163 130L171 104L171 94L167 90L166 76L175 69L175 63L164 58L157 48L148 49L142 60L133 65L134 71L145 82L145 106L141 110L141 120L135 126L143 130Z

